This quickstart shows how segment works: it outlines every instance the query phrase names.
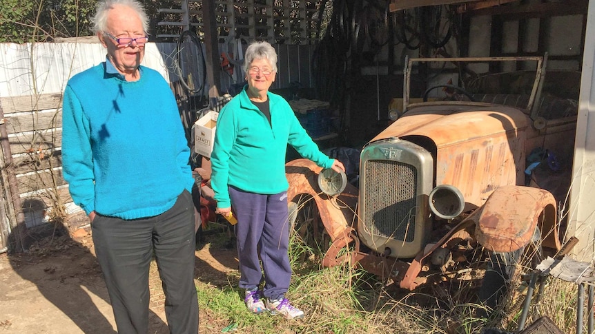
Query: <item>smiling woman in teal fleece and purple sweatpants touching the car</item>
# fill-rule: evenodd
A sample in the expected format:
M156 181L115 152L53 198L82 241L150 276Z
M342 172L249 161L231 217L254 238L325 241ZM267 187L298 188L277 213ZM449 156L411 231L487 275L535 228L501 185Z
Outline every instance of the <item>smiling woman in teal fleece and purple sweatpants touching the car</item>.
M320 152L284 98L269 92L277 74L277 54L271 44L256 42L248 46L244 72L248 85L227 103L217 119L211 154L215 212L226 216L233 207L237 218L239 285L245 289L248 309L299 318L304 312L285 298L291 279L287 253L287 144L320 167L335 171L344 171L344 167ZM261 291L262 271L265 282Z

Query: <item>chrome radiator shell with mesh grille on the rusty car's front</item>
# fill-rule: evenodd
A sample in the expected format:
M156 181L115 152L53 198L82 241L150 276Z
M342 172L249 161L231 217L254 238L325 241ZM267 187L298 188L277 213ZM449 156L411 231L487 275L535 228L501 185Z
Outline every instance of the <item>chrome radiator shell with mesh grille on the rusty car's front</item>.
M368 247L393 258L412 258L431 229L428 196L433 158L414 143L378 140L362 150L358 234Z

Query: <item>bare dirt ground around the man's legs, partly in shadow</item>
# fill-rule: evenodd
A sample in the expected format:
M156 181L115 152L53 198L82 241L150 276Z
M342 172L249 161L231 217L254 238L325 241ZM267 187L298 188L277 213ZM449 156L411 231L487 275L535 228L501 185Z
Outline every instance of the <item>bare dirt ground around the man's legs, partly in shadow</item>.
M83 213L77 213L68 222L86 219ZM49 229L39 235L27 253L0 254L0 333L116 333L89 228L65 229L68 233ZM219 234L226 238L226 233ZM197 284L229 284L228 274L237 272L237 253L231 244L217 249L209 243L198 244ZM150 291L149 333L169 333L155 262L150 269ZM203 309L199 317L200 333L224 326Z

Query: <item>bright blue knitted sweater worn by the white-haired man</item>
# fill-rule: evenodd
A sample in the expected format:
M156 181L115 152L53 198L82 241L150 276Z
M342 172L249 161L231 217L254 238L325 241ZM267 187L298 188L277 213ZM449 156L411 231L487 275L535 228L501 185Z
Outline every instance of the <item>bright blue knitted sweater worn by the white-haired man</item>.
M191 191L190 149L177 103L159 72L127 82L106 61L64 90L62 165L70 196L88 214L157 216Z

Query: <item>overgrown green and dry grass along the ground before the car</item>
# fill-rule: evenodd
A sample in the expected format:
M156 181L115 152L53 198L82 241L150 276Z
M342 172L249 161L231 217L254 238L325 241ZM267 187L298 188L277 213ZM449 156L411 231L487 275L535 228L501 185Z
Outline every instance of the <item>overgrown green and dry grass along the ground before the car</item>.
M304 310L306 315L301 320L247 311L243 291L237 287L239 273L228 276L227 286L199 282L202 332L471 334L482 333L485 328L508 332L518 328L526 287L520 278L513 281L511 292L491 317L484 318L478 317L482 306L474 300L476 287L471 282L457 282L457 286L442 282L411 292L347 265L323 269L321 257L320 249L304 244L298 234L292 236L293 275L287 297ZM518 274L526 272L520 264L517 266ZM453 297L462 289L469 292ZM525 327L547 315L563 333L575 333L576 291L576 284L549 278L539 298L538 289L535 291ZM585 292L585 302L586 295ZM585 310L585 326L586 313Z

